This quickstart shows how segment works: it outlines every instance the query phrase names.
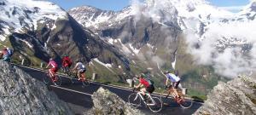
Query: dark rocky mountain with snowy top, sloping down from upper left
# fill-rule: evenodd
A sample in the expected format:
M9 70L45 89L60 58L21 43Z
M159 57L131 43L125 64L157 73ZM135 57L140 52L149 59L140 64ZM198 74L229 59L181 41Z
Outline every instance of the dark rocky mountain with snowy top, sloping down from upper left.
M26 65L38 66L49 57L61 63L61 57L69 55L88 63L89 71L99 71L104 77L130 72L129 60L118 49L80 26L54 3L1 0L0 9L0 49L15 49L15 62L26 59Z

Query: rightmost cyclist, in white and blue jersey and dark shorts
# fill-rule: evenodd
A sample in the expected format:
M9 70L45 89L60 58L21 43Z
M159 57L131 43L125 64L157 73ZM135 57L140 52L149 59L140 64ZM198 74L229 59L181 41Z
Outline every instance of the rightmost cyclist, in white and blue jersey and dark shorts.
M180 83L180 78L178 76L176 76L175 74L169 72L169 71L166 71L164 73L166 75L166 87L165 88L167 88L168 81L170 80L173 83L173 87L172 86L171 87L172 87L172 89L174 91L174 94L176 96L175 98L179 99L180 95L178 95L178 93L177 93L177 86ZM171 87L169 87L169 89Z

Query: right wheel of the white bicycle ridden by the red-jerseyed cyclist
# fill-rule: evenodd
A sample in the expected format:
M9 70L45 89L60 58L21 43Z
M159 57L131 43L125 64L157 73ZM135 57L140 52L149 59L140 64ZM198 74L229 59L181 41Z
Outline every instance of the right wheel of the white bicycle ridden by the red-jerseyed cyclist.
M160 112L163 107L163 103L158 97L148 99L147 105L152 112Z

